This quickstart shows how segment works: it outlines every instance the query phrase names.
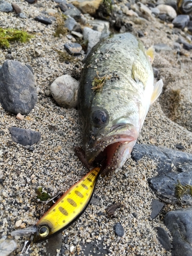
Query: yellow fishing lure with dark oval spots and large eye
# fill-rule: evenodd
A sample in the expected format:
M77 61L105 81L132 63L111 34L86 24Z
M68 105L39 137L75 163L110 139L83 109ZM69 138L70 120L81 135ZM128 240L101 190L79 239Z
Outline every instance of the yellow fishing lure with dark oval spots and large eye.
M31 236L24 246L28 246L28 250L32 242L47 240L72 225L88 207L99 173L100 168L93 168L70 187L34 226L15 230L11 232L11 236Z

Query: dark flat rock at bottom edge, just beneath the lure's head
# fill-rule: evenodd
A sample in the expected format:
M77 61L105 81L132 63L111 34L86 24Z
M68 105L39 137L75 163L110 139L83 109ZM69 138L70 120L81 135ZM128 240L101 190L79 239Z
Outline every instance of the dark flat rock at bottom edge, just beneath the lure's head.
M57 250L60 250L61 245L62 245L62 232L55 234L46 243L45 247L46 247L47 255L55 256L57 254Z

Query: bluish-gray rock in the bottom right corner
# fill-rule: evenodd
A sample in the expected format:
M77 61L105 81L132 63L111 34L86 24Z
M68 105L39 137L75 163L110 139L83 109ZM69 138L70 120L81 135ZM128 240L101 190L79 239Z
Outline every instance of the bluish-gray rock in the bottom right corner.
M192 255L192 208L169 211L164 223L172 233L172 256Z

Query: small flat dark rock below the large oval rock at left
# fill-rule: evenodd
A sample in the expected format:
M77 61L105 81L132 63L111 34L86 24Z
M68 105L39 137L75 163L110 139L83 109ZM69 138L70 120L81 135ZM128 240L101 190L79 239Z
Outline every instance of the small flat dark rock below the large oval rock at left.
M10 127L9 132L14 142L22 144L24 146L33 145L40 140L40 133L31 131L29 129L22 129L18 127Z

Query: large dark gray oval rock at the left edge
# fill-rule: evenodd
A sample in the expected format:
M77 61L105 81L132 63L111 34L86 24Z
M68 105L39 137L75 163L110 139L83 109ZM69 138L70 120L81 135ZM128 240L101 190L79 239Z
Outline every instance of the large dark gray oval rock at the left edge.
M28 114L37 102L31 71L19 61L6 60L0 71L0 102L15 114Z

